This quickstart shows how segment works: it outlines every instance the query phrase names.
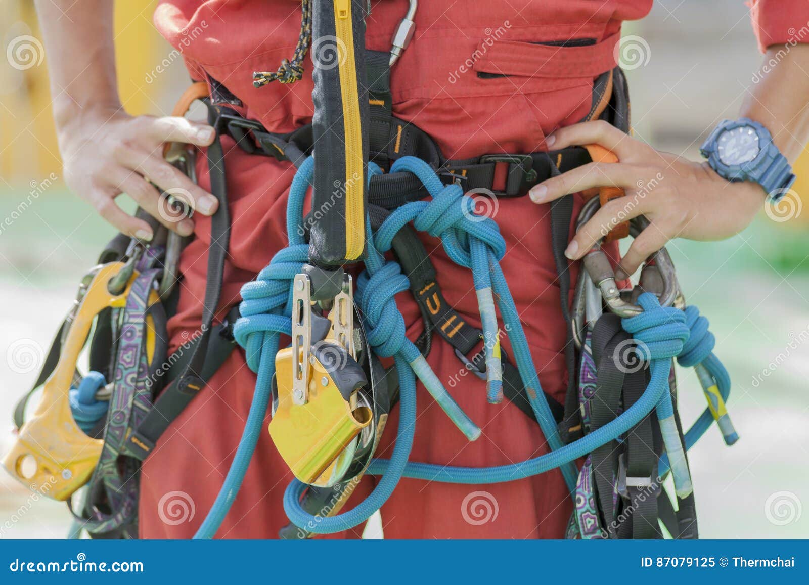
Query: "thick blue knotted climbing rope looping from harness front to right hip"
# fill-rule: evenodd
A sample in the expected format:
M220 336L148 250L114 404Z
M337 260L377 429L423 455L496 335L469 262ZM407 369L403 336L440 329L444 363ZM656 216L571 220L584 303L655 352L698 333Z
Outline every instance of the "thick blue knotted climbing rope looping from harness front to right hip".
M574 490L578 471L574 460L587 455L595 448L616 439L650 413L658 409L663 416L671 416L673 407L668 388L671 358L678 358L683 365L702 363L717 380L722 396L726 398L730 388L726 371L710 354L713 337L707 332L707 321L698 316L696 309L688 307L685 312L674 307L660 307L657 298L643 294L638 302L644 309L641 315L625 319L623 325L645 350L640 358L650 362L650 383L641 398L615 420L600 427L574 443L563 445L557 433L556 422L544 398L536 367L533 364L525 333L519 320L514 299L510 295L500 260L506 252L506 244L497 223L491 218L475 214L472 200L465 197L459 185L444 185L434 170L421 159L404 157L393 164L392 172L412 172L426 186L430 201L414 201L394 210L373 235L369 246L366 270L358 278L355 298L366 326L367 341L380 357L392 357L400 385L400 421L396 443L390 460L371 461L367 473L381 475L375 490L352 510L332 517L315 517L301 506L301 498L307 485L293 480L284 494L284 509L290 520L316 533L341 532L365 521L388 500L401 477L428 481L446 481L464 484L485 484L514 481L560 468L571 492ZM270 388L275 371L275 355L280 334L290 334L292 281L307 261L307 245L303 240L303 199L313 172L313 159L307 159L295 174L290 188L286 227L289 247L278 252L270 264L261 271L255 282L242 289L244 302L240 306L242 318L234 328L236 341L244 347L248 367L256 372L256 392L248 414L244 435L230 472L214 507L195 538L210 538L222 523L235 494L244 479L247 465L255 450L261 422L269 404ZM371 163L369 178L381 171ZM405 336L404 318L396 307L396 294L409 289L407 277L401 273L396 262L385 261L383 254L392 246L393 237L404 224L413 222L419 231L426 231L442 240L447 255L456 264L472 270L475 289L481 308L487 358L498 342L497 320L493 299L506 327L520 376L527 390L528 401L540 423L540 428L551 451L543 456L518 464L490 468L447 467L436 464L408 462L416 428L416 379L426 388L447 412L456 426L468 436L477 438L474 423L455 405L443 385L427 366L412 341ZM370 234L370 225L367 226ZM704 329L704 331L703 331ZM689 335L692 333L693 337ZM710 336L710 337L709 337ZM499 365L499 364L498 364ZM488 370L489 368L487 368ZM502 400L502 378L499 369L494 369L487 379L487 396L490 402ZM713 422L709 411L688 430L686 446L699 439ZM679 440L677 442L679 444ZM665 463L667 468L667 463ZM663 461L661 461L663 467ZM687 471L687 468L686 468Z

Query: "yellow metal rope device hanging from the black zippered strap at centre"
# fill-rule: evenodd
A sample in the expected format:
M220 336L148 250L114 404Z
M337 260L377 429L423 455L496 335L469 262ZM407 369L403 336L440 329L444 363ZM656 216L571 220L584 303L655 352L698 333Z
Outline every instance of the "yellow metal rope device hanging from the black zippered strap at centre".
M351 278L344 277L328 318L311 301L311 281L294 279L292 346L278 352L269 435L300 481L333 485L354 460L358 435L373 411L354 350Z

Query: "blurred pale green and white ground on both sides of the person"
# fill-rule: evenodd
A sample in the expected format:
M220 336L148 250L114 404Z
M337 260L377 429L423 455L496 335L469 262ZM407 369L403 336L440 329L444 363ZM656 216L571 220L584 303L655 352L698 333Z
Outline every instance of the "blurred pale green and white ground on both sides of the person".
M26 193L0 193L0 218L10 217ZM0 352L20 337L47 350L78 278L111 235L89 207L57 185L3 228ZM712 429L691 452L701 535L809 537L809 511L798 515L803 502L809 504L809 235L762 214L731 240L678 240L670 250L689 303L709 317L715 351L731 371L730 410L741 435L726 448ZM771 362L773 371L764 377ZM34 371L11 371L0 359L0 421L9 421L12 405L35 377ZM690 371L681 372L680 388L684 421L693 420L705 402ZM2 446L11 439L10 426L0 429L6 429ZM69 524L62 504L32 502L28 490L2 473L0 518L11 515L20 519L0 537L61 538ZM791 519L784 524L785 518Z

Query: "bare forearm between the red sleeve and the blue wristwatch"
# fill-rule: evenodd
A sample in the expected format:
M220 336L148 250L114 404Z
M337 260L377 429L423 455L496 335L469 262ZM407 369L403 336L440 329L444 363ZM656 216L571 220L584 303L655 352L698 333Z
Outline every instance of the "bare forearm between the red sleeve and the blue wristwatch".
M740 115L765 125L778 150L794 163L809 143L809 45L773 45L764 67Z

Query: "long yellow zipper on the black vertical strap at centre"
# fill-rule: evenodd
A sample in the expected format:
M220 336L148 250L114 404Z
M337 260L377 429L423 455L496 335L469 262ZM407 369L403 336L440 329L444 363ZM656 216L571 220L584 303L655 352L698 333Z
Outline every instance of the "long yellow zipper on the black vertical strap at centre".
M365 246L365 218L362 214L362 126L359 115L357 64L354 61L354 30L351 27L351 0L335 0L334 20L337 39L345 46L340 59L340 92L345 132L345 259L356 260ZM339 49L339 47L338 47Z

